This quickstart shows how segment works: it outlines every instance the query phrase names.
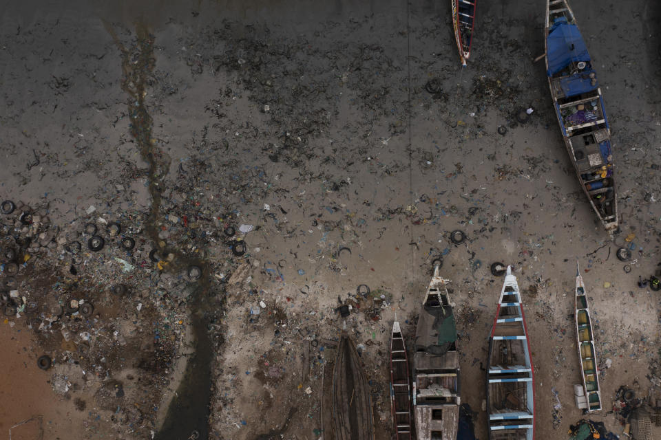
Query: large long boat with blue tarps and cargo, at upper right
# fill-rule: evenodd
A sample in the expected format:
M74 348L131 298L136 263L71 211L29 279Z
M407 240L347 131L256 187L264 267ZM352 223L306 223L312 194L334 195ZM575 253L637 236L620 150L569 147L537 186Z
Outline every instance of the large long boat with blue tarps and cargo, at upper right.
M547 0L546 71L580 186L608 232L618 228L611 130L597 74L567 0Z

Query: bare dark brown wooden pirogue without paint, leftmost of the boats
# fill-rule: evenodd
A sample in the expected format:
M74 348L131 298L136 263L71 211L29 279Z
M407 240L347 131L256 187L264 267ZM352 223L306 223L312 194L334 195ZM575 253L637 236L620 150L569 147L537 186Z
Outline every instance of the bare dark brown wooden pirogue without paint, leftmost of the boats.
M370 388L353 340L343 331L333 366L333 429L336 440L374 440Z

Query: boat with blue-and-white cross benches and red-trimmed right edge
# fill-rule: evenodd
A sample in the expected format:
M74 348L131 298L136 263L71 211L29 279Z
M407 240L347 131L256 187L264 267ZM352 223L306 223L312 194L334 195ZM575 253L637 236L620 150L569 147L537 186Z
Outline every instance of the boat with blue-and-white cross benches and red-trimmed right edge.
M489 439L533 440L534 401L534 373L521 294L512 267L507 266L489 338Z

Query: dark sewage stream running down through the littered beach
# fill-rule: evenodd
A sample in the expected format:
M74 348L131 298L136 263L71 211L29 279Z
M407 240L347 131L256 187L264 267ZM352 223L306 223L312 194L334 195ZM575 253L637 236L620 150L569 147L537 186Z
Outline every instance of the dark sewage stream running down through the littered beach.
M158 236L161 224L161 195L163 182L170 166L170 157L156 146L156 141L152 137L153 122L145 104L147 80L156 65L154 36L149 33L143 21L138 21L136 39L132 46L127 48L112 27L108 23L104 24L122 58L122 89L129 95L131 134L136 140L140 155L149 164L147 180L151 208L145 222L145 232L160 255L174 256L168 259L167 264L159 265L159 269L162 267L162 270L167 272L178 272L191 265L202 267L202 277L196 281L196 289L191 294L190 303L195 353L187 362L182 382L169 404L165 421L155 438L157 440L207 439L213 346L203 311L205 298L209 296L211 289L211 281L207 263L191 258L181 250L168 247Z

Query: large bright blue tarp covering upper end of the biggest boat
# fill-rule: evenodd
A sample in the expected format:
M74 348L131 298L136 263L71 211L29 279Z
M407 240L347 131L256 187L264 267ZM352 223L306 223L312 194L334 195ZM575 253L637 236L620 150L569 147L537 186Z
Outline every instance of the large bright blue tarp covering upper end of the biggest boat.
M580 36L578 27L567 23L565 17L560 17L553 23L546 44L546 57L549 62L547 74L549 76L560 72L572 61L590 61L590 54L587 52L585 41Z

